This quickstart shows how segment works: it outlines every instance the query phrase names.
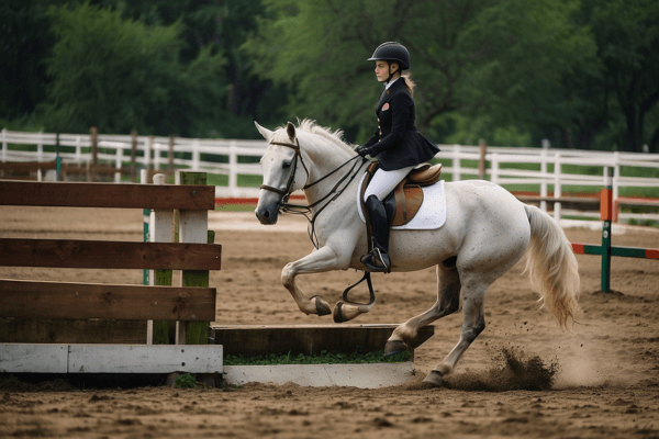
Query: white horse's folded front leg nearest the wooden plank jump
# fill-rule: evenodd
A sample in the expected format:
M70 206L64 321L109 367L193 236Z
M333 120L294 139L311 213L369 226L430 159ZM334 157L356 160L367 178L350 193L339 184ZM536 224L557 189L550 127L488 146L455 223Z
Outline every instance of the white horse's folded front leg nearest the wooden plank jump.
M308 296L295 283L295 277L298 274L320 273L347 268L347 262L343 262L346 267L340 264L342 260L332 247L321 247L302 259L287 263L283 270L281 270L281 283L291 293L300 311L303 313L308 315L317 314L319 316L332 314L330 304L319 295Z

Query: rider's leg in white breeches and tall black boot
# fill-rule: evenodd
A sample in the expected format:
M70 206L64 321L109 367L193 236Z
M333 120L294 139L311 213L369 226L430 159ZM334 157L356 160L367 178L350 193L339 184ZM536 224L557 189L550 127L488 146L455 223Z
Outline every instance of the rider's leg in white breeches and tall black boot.
M372 228L372 247L368 255L361 258L364 264L371 271L391 271L389 259L389 223L390 217L382 201L395 189L414 167L393 171L378 169L364 194Z

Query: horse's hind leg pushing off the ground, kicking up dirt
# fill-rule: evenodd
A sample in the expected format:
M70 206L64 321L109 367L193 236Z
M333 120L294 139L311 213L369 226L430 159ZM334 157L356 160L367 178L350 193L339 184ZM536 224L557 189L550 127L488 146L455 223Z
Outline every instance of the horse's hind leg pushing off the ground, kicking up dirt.
M434 386L443 383L443 376L453 372L462 353L485 328L484 303L490 283L465 282L462 288L462 333L460 341L448 353L444 362L437 364L423 380Z

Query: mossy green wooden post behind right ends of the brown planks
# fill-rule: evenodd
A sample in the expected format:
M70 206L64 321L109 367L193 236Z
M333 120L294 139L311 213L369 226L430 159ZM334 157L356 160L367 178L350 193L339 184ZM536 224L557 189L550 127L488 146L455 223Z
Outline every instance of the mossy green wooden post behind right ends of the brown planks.
M179 172L179 184L206 184L206 173L205 172ZM190 212L180 212L179 213L179 227L182 227L182 223L185 221L186 214ZM202 214L199 214L201 218ZM205 230L203 232L204 238L206 243L215 241L214 232L208 230L208 212L203 212L203 216L205 216ZM193 232L194 237L198 238L198 234L200 230ZM182 241L189 241L189 238L185 236L185 232L179 229L179 238ZM210 272L208 270L182 270L181 274L181 283L182 286L209 286L210 283ZM179 323L181 324L181 323ZM209 329L210 322L188 322L186 325L186 345L208 345L209 342ZM180 330L180 329L179 329Z

